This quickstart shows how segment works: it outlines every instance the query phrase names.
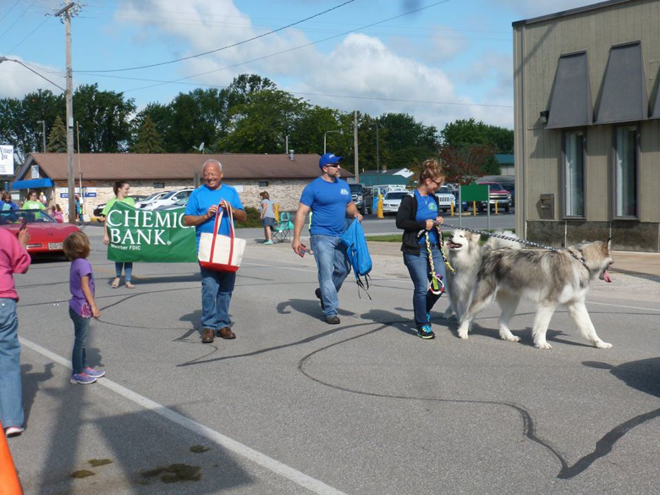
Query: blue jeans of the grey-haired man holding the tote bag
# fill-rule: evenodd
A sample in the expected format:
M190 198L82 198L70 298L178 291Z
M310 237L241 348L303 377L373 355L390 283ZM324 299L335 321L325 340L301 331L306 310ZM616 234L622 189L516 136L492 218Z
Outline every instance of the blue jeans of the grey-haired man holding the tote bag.
M232 300L236 272L213 272L204 267L201 271L201 326L221 329L229 327L229 303Z

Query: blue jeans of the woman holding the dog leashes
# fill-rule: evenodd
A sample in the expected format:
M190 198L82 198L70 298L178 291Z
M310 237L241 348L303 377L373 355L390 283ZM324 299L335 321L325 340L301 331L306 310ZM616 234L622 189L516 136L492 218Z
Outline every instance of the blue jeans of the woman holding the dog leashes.
M433 265L436 274L442 276L445 281L445 262L442 260L442 254L436 245L431 246L433 255ZM426 246L419 246L419 255L404 252L404 264L408 267L410 278L415 285L412 292L412 308L415 310L415 325L417 328L426 325L426 314L431 311L433 305L439 299L439 294L433 294L428 290L428 281L430 281L430 267L428 265L428 253Z

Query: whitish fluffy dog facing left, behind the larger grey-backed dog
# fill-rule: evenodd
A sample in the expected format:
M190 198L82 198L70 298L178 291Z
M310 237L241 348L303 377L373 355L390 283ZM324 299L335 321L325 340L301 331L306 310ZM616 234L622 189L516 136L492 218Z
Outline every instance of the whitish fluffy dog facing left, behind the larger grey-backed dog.
M496 232L496 234L516 237L516 234L509 230ZM502 248L520 249L520 243L515 241L490 237L485 244L481 245L479 243L480 239L481 234L476 232L454 230L445 243L448 251L447 260L454 268L453 274L451 270L447 270L447 292L450 305L445 311L445 320L448 320L453 314L456 316L456 320L461 321L461 317L465 314L472 298L472 289L476 284L476 274L487 252Z

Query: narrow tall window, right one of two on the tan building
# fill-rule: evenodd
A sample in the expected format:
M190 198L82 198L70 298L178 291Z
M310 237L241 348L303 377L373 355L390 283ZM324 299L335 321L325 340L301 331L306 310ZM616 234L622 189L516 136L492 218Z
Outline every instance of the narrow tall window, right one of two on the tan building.
M638 132L636 125L615 130L615 217L637 217Z

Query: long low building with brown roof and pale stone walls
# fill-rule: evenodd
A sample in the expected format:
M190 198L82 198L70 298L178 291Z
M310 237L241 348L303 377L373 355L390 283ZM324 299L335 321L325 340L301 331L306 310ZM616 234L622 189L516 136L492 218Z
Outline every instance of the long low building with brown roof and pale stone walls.
M131 184L131 194L151 195L153 192L192 187L201 177L201 167L207 159L223 164L223 182L238 190L245 206L259 206L259 192L267 191L279 203L280 210L296 210L303 188L320 175L319 155L200 155L200 154L139 154L81 153L74 159L76 193L80 194L82 170L85 210L91 212L113 198L114 181L124 179ZM353 177L347 170L342 178ZM21 197L30 184L43 190L50 204L59 203L66 209L68 197L66 153L32 153L19 169L16 181L21 181ZM16 182L14 181L14 183Z

